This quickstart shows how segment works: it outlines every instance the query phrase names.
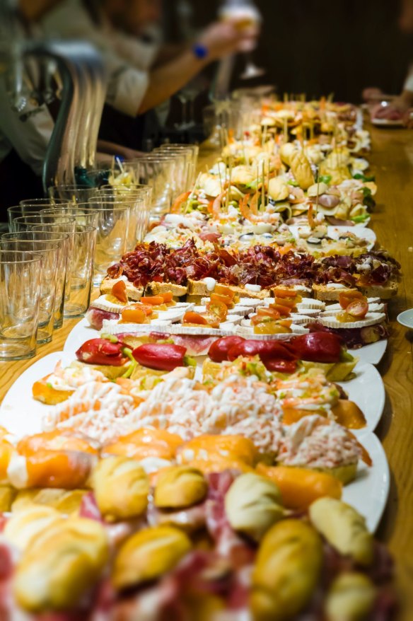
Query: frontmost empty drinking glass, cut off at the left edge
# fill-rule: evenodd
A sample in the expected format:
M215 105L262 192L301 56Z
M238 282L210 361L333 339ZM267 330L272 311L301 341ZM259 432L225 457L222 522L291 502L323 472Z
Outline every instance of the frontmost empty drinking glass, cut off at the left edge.
M42 256L0 250L0 360L36 352Z

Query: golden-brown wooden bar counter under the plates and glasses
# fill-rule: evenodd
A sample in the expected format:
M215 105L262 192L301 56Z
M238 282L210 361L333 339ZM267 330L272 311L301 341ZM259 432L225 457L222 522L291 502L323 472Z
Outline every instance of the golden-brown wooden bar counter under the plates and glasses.
M391 471L390 497L378 537L390 547L395 558L400 621L412 621L413 331L397 324L395 318L402 310L413 307L413 131L370 129L373 144L369 160L378 184L378 204L371 226L378 243L400 261L403 272L399 294L389 305L392 335L388 351L378 367L387 397L377 434L383 442ZM211 164L217 155L201 149L200 170ZM40 347L35 358L0 363L0 401L25 368L50 352L63 349L66 336L76 321L65 321L55 332L52 343Z

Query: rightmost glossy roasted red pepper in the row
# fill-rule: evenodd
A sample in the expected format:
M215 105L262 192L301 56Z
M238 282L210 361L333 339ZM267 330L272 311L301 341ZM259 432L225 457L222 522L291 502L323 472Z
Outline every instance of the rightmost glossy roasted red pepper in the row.
M310 332L293 337L289 347L301 360L334 363L340 361L342 339L332 332Z

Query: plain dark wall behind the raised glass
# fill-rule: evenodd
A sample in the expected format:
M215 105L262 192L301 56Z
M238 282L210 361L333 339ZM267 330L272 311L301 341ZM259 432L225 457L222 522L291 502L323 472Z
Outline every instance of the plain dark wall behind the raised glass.
M175 0L166 0L173 13ZM192 21L202 27L216 16L218 0L190 0ZM267 69L260 83L279 93L358 102L366 86L398 93L410 61L413 37L397 28L399 0L256 0L263 16L255 61ZM172 31L179 27L170 16ZM175 25L174 25L175 23ZM242 69L238 63L238 74ZM235 71L237 74L237 71ZM247 83L235 79L233 86ZM252 83L253 85L253 83Z

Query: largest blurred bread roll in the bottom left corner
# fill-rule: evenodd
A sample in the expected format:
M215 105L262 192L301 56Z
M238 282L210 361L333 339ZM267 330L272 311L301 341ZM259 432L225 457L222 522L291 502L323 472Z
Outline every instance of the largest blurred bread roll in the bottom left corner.
M99 579L108 556L100 523L83 518L57 521L30 540L23 552L13 585L18 604L33 613L75 608Z

